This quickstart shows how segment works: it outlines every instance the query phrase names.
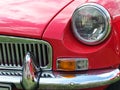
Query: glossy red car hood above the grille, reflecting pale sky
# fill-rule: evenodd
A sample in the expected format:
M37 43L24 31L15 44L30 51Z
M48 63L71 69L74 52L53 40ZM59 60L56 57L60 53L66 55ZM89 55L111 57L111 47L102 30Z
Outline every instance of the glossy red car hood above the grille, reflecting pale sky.
M41 38L72 0L0 0L0 34Z

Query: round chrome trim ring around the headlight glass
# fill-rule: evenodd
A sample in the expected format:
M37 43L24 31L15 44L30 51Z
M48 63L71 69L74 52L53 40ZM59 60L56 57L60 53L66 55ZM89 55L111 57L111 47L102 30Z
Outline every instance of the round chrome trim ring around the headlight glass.
M78 29L76 28L76 24L75 24L76 14L81 9L86 8L86 7L87 8L90 7L90 8L98 10L98 12L101 13L101 15L102 15L102 17L104 18L104 21L105 21L104 32L101 34L101 36L99 36L99 38L97 38L95 40L88 40L88 39L83 38L78 33ZM73 33L74 33L75 37L79 41L81 41L82 43L87 44L87 45L97 45L97 44L103 42L111 32L111 16L110 16L109 12L103 6L101 6L97 3L86 3L86 4L83 4L82 6L78 7L74 11L74 13L72 15L72 28L73 28Z

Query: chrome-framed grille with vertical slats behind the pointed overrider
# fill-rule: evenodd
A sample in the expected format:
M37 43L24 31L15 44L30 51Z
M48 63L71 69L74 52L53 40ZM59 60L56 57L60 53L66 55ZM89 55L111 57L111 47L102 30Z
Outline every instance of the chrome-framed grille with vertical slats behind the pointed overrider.
M32 52L40 68L51 70L52 47L43 40L0 36L0 69L22 70L24 56Z

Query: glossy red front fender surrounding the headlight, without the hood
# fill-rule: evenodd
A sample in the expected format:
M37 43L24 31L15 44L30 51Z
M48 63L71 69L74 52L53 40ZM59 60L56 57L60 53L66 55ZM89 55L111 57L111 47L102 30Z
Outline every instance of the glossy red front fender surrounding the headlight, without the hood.
M56 70L56 59L61 57L88 58L89 69L111 68L117 67L120 64L119 28L116 27L113 18L118 13L115 14L115 12L113 12L113 7L111 7L113 10L110 10L108 7L112 2L110 5L102 4L109 10L112 18L111 34L103 43L96 46L87 46L76 40L73 36L71 16L75 8L83 3L85 2L74 1L71 3L62 10L46 28L43 39L50 42L53 47L54 70Z

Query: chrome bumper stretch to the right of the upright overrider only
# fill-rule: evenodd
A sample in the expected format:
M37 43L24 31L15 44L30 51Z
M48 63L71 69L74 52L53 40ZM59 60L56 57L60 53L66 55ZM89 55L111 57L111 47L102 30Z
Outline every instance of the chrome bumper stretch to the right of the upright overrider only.
M68 90L98 87L118 81L119 74L119 69L91 71L85 74L55 74L53 78L41 78L40 88Z

